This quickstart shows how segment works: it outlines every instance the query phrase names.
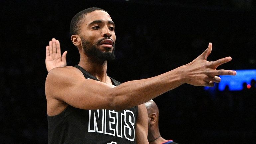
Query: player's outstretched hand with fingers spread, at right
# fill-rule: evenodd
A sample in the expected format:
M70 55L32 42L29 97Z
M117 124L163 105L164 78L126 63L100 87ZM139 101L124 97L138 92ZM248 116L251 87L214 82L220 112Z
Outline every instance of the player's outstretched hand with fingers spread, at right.
M213 87L214 82L219 83L217 75L236 75L232 70L216 70L218 66L231 61L231 57L225 57L216 61L207 61L212 50L212 44L192 62L182 66L184 68L184 82L195 86Z

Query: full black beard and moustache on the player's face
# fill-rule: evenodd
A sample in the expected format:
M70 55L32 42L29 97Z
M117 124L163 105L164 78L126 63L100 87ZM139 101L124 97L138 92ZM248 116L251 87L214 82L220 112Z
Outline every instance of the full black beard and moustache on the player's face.
M115 59L114 51L115 51L115 43L113 43L113 50L112 52L106 51L102 52L97 45L100 45L100 42L107 38L100 39L97 44L92 44L89 41L86 41L83 37L82 40L82 47L85 54L92 59L92 61L96 63L104 63L105 61L110 61Z

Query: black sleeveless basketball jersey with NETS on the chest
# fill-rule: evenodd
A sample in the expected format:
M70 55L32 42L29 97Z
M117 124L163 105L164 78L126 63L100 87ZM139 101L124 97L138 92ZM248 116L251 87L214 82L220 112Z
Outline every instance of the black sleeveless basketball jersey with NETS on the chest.
M86 79L98 80L80 66ZM117 86L120 82L112 79ZM138 107L127 110L84 110L68 106L48 117L49 144L135 144Z

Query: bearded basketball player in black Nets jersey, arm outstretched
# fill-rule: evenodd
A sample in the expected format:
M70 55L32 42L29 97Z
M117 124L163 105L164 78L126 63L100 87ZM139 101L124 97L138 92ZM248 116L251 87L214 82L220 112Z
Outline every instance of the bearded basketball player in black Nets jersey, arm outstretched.
M47 75L49 143L148 143L145 102L184 83L213 86L220 82L216 75L236 75L235 71L216 70L231 57L206 60L212 49L209 43L186 65L121 84L106 73L116 39L109 14L100 8L85 9L73 17L70 32L80 62L54 68ZM49 53L53 52L49 47Z

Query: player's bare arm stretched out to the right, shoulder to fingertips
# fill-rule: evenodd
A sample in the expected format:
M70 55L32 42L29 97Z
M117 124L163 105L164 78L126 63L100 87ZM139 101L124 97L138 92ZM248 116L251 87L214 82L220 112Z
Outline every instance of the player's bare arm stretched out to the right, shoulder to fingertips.
M195 60L164 74L142 80L125 82L117 87L87 80L76 68L55 68L46 78L46 97L80 109L122 110L147 102L184 83L195 86L213 86L220 82L216 75L235 75L235 71L216 70L231 57L214 62L206 60L212 45Z

